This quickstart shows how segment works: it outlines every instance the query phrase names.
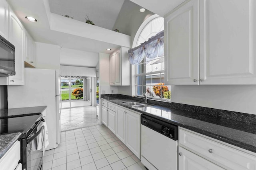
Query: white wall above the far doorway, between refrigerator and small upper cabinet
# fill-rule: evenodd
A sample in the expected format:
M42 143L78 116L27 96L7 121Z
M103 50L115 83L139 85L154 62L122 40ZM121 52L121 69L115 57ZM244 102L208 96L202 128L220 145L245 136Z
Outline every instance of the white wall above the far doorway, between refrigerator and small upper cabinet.
M67 66L83 66L95 68L99 61L99 54L74 49L60 49L60 64Z

